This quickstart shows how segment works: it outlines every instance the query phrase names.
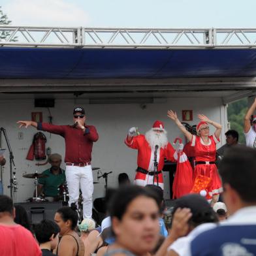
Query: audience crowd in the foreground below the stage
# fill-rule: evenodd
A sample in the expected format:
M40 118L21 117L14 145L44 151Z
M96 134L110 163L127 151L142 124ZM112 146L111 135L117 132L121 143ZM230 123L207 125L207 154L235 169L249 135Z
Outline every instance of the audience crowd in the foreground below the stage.
M76 210L65 206L54 221L44 219L25 228L14 222L12 199L1 195L0 254L256 255L255 169L254 149L229 148L219 164L224 202L212 207L195 193L174 200L167 234L161 231L163 195L155 185L121 185L100 227L91 219L78 225Z

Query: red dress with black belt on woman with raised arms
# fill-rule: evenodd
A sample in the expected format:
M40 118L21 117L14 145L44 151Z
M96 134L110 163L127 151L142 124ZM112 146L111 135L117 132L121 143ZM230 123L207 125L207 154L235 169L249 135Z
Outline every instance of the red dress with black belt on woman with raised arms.
M209 136L209 144L206 145L202 141L200 136L192 135L192 140L190 142L191 146L195 147L195 162L205 161L205 162L215 162L216 161L216 144L219 139L215 135ZM217 171L216 164L199 164L195 166L193 178L203 175L210 178L210 183L208 184L207 190L209 195L217 195L222 192L221 179Z

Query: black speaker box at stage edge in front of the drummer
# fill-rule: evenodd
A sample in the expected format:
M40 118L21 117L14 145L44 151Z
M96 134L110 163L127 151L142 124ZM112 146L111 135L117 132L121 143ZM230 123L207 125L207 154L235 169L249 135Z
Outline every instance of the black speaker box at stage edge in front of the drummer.
M16 204L25 208L33 224L39 223L42 219L54 221L56 211L62 207L62 202L18 202Z

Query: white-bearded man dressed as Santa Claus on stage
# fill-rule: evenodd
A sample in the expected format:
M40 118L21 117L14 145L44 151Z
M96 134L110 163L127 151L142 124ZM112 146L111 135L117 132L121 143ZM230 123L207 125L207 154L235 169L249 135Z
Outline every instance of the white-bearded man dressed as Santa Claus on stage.
M154 176L154 157L156 152L158 185L163 189L162 169L165 165L165 158L167 158L168 161L176 161L174 159L175 150L168 142L167 131L165 131L163 122L155 121L152 129L146 132L145 135L137 135L136 127L131 127L125 139L125 144L129 146L129 148L138 150L138 168L136 169L135 176L136 185L157 185L157 177Z

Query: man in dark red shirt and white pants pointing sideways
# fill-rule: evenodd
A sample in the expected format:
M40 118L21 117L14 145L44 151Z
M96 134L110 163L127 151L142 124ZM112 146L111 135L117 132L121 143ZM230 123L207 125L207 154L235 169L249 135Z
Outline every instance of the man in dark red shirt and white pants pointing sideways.
M93 175L91 170L91 151L93 142L99 138L93 125L86 125L85 111L77 106L73 111L74 125L52 125L35 121L18 121L20 127L30 125L40 131L48 131L65 138L66 180L69 188L69 205L77 204L79 189L83 197L84 218L91 218Z

